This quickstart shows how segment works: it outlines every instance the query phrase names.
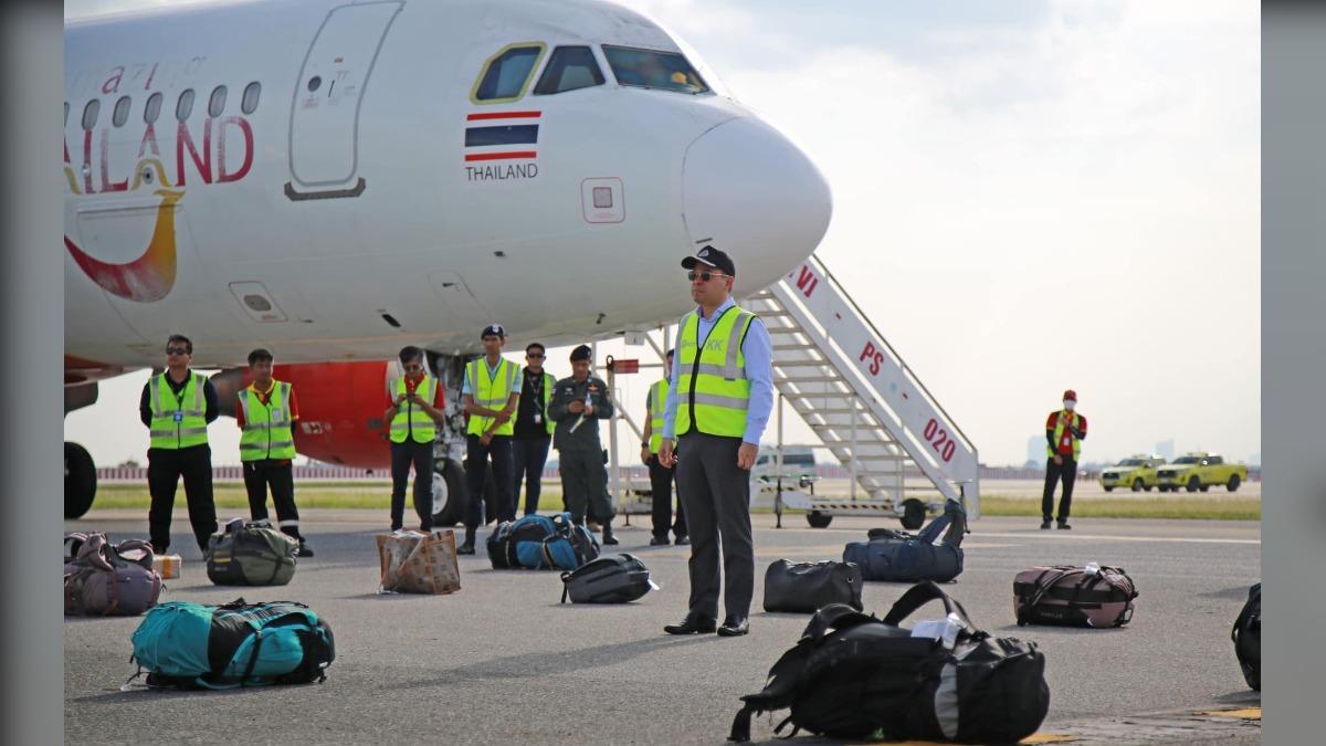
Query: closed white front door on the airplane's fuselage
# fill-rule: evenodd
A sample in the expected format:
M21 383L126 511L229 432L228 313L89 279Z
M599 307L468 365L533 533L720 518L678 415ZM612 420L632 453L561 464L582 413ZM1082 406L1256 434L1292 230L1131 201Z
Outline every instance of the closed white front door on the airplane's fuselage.
M290 101L290 199L358 196L359 102L400 0L339 5L318 28Z

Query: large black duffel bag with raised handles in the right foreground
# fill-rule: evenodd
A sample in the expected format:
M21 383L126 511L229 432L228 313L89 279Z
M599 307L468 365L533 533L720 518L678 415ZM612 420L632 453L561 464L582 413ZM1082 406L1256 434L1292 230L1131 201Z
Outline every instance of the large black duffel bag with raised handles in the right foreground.
M940 600L959 621L952 646L899 627ZM751 717L790 709L792 735L835 739L1016 743L1036 733L1050 708L1045 657L1034 642L991 637L932 581L908 589L883 620L831 604L769 670L758 694L732 721L731 741L751 739Z

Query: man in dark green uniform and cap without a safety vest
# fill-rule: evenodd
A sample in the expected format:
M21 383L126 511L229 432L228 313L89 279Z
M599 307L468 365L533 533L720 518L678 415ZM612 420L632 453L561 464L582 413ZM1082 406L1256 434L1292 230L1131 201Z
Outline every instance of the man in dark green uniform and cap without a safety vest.
M557 381L553 400L548 404L548 417L557 423L553 447L558 453L562 498L572 520L583 524L586 512L601 519L603 543L617 544L603 446L598 439L598 421L613 417L613 397L602 378L589 374L589 358L586 345L572 350L572 376Z

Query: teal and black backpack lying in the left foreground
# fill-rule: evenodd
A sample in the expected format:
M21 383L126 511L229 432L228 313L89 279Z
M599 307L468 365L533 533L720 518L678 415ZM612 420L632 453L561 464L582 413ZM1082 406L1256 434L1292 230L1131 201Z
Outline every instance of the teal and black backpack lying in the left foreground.
M233 689L324 681L335 660L332 627L294 601L213 607L167 601L131 637L149 686ZM137 674L135 674L137 676Z

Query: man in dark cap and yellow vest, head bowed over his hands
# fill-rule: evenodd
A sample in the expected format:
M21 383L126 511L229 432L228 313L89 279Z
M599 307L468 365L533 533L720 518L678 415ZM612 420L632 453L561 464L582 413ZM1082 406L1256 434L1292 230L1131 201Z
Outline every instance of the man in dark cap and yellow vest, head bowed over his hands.
M501 356L507 344L507 331L501 324L489 324L480 332L484 356L465 364L465 382L461 401L469 425L465 427L465 486L469 504L465 507L465 540L456 547L459 555L475 554L475 531L480 523L516 520L516 496L512 481L511 438L516 431L512 418L520 406L520 366ZM484 520L484 481L488 477L488 458L492 457L493 488L497 491L497 515Z

